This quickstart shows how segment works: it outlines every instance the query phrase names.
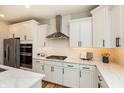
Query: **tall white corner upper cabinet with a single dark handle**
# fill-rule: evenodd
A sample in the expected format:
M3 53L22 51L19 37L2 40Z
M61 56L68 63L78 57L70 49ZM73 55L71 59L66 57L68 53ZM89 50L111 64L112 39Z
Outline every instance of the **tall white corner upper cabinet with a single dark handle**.
M111 15L108 6L99 6L92 13L93 47L111 47Z

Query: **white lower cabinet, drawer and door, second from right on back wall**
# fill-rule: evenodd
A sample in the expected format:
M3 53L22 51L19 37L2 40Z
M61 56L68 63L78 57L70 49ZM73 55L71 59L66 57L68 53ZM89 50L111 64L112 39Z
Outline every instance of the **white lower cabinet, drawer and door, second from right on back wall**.
M79 87L79 65L78 64L63 64L63 85L67 87Z

